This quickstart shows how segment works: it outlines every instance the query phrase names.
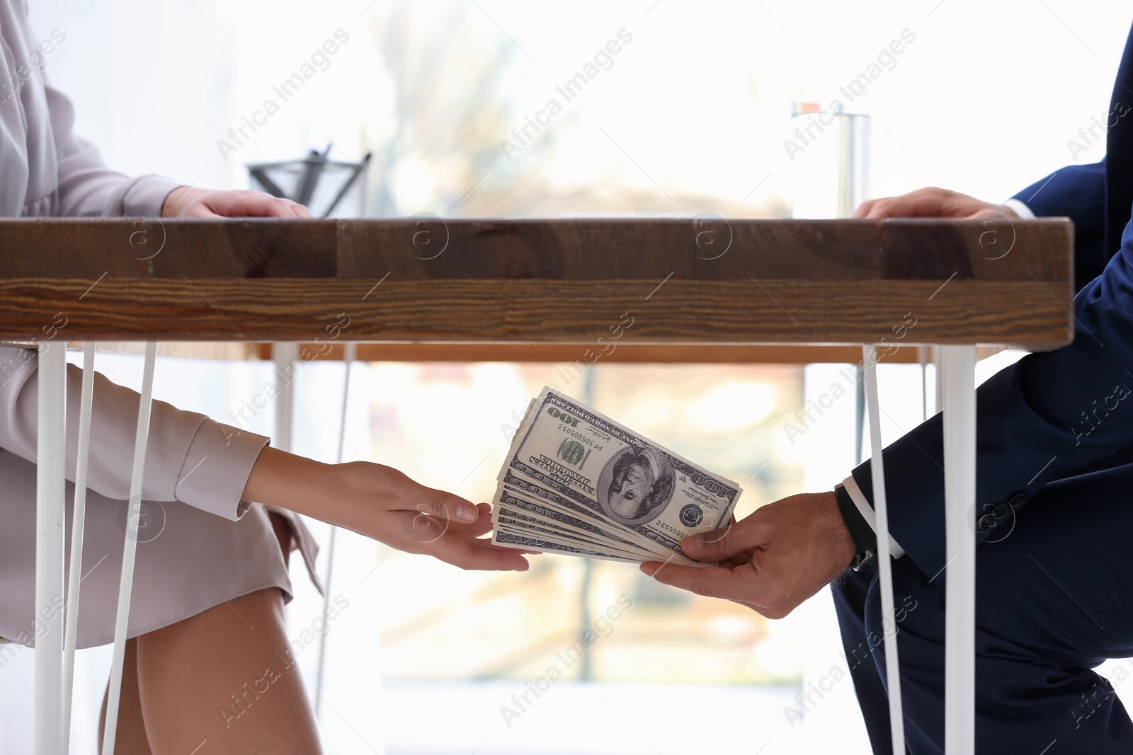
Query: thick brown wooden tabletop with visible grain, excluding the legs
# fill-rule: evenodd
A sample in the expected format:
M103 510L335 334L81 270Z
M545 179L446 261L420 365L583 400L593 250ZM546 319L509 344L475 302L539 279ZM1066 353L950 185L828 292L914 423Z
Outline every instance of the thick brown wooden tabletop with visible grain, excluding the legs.
M68 340L535 349L1073 333L1065 220L36 220L0 249L0 338L59 316Z

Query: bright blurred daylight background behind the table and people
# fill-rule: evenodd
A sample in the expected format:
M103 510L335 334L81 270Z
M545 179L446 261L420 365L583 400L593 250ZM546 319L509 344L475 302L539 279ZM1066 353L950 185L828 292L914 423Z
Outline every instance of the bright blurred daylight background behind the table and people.
M48 72L76 101L77 129L128 173L239 188L247 162L332 143L335 158L373 153L369 215L782 217L792 98L840 96L904 29L914 41L852 105L874 119L870 194L937 185L1000 200L1075 162L1067 139L1104 120L1133 12L1070 0L33 0L32 15L40 35L66 34ZM272 87L337 29L349 40L280 104ZM512 128L620 29L632 41L613 66L505 155ZM269 97L279 111L232 141L229 129ZM222 154L221 139L235 151ZM99 359L112 379L139 383L137 358ZM356 366L347 457L484 499L509 440L501 423L560 367ZM852 398L793 444L784 431L837 371L599 363L570 392L746 481L746 514L829 489L852 466ZM170 359L156 393L225 420L270 379L265 363ZM333 460L341 381L340 363L300 370L299 453ZM921 420L919 368L883 367L881 387L888 441ZM272 424L269 409L250 429ZM299 637L322 603L299 569L295 583ZM845 666L827 591L776 623L632 566L538 557L527 574L477 574L342 534L332 593L349 600L327 629L321 717L335 753L868 752L849 679L804 717L795 702ZM613 632L505 723L501 706L621 595L633 608ZM316 657L300 653L308 683ZM108 666L107 649L80 653L73 752L94 749ZM28 750L31 668L23 651L0 669L0 753Z

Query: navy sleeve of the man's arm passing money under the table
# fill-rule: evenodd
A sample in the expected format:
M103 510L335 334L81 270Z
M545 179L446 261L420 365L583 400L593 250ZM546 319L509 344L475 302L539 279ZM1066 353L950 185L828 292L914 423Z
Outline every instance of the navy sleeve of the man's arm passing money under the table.
M1074 317L1072 344L1024 357L977 393L976 515L1017 509L1049 480L1133 444L1133 224L1075 297ZM926 575L939 575L948 560L942 414L884 453L893 537ZM872 500L869 462L853 478Z

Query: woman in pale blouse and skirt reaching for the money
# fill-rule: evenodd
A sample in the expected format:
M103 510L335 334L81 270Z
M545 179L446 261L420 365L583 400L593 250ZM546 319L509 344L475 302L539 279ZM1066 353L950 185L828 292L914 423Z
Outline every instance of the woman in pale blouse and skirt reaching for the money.
M25 3L0 0L0 216L310 216L254 191L108 170L73 134L70 102L45 84L44 44L28 27ZM0 637L25 645L34 645L36 632L35 368L34 351L0 348ZM70 368L70 479L79 383ZM79 647L113 636L137 407L136 393L96 377ZM461 568L527 568L518 551L478 538L491 529L487 504L389 466L293 456L162 402L154 402L151 427L143 496L165 522L157 538L138 543L119 753L184 755L205 740L203 755L320 752L283 621L291 550L314 577L315 547L295 513ZM270 694L248 692L265 679Z

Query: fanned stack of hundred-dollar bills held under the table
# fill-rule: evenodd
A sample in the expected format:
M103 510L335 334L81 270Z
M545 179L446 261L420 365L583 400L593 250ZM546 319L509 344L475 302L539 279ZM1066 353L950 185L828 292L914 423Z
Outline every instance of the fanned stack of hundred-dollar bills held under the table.
M740 487L561 393L531 401L500 472L492 542L704 566L690 534L732 521Z

